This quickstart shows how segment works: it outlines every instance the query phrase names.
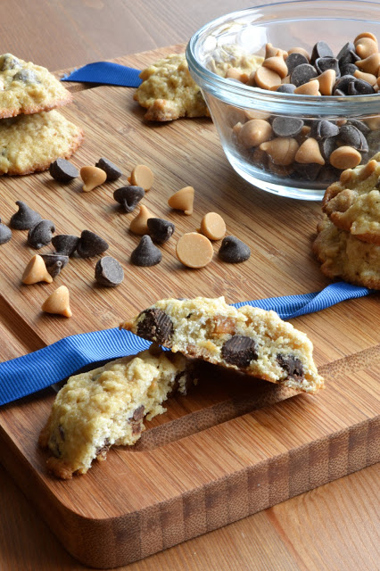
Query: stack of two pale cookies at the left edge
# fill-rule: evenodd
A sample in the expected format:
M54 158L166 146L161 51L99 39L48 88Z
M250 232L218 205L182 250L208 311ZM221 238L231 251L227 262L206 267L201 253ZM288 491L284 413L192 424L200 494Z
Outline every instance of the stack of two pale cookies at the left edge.
M45 68L0 55L0 175L46 170L57 158L70 158L83 131L51 110L71 101Z

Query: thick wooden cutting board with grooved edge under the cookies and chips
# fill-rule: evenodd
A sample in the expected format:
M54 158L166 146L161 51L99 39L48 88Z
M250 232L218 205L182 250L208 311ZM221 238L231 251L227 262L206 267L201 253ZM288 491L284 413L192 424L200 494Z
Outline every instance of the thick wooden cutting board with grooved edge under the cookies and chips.
M141 69L172 51L118 62ZM62 110L86 133L72 161L80 167L106 156L125 173L121 181L82 193L78 180L62 186L48 173L0 179L5 222L14 202L23 200L53 219L57 233L92 229L107 239L107 253L126 273L120 287L105 289L95 285L95 260L73 259L54 284L21 285L35 252L26 245L26 233L14 231L0 252L0 330L14 340L10 357L66 335L115 327L163 297L225 295L227 302L238 302L314 292L328 284L310 250L319 203L255 190L227 163L211 120L146 124L132 95L122 87L81 89ZM155 175L145 205L176 225L161 248L161 264L153 268L129 264L138 242L128 233L135 213L122 213L112 199L137 163L148 164ZM190 217L167 205L170 194L187 185L195 188ZM228 234L250 244L249 261L228 265L215 254L204 269L180 265L176 236L199 228L207 211L218 211ZM70 289L71 319L40 311L62 284ZM104 568L144 558L374 464L380 459L378 303L373 294L293 319L310 335L326 377L326 390L314 397L261 381L231 384L219 371L207 373L186 397L171 398L167 412L146 423L135 448L114 449L86 476L63 482L46 474L46 454L37 448L54 400L53 389L47 389L0 410L0 461L66 549L86 565Z

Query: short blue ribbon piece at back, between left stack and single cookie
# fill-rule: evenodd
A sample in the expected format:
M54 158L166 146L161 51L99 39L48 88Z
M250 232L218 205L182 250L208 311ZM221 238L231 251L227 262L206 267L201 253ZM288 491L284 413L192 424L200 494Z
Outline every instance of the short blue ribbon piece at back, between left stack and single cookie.
M128 68L120 63L95 62L88 63L65 75L62 81L79 81L85 83L102 83L110 86L138 87L142 81L138 77L140 70Z

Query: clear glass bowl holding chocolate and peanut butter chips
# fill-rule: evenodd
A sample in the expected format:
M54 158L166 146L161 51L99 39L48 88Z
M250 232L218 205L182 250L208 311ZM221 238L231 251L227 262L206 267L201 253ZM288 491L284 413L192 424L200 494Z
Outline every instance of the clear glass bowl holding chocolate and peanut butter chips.
M337 54L362 32L372 32L380 42L380 4L377 2L310 0L267 4L229 13L194 34L186 48L189 70L201 87L227 159L239 175L270 193L321 200L326 186L337 180L343 170L329 164L333 147L329 151L321 149L326 157L325 165L305 165L294 160L288 164L278 164L277 160L276 164L276 158L272 160L260 146L250 146L249 137L248 142L245 137L239 137L242 124L255 118L269 124L276 117L302 119L305 128L296 137L297 145L301 145L302 140L313 132L310 128L317 127L318 120L330 120L338 127L346 120L360 120L368 144L368 151L364 145L360 152L361 162L367 162L380 151L380 92L314 96L248 87L234 79L220 77L209 69L215 49L232 44L248 54L263 56L269 42L285 50L301 46L311 54L312 47L323 40ZM338 135L334 148L341 145L346 144Z

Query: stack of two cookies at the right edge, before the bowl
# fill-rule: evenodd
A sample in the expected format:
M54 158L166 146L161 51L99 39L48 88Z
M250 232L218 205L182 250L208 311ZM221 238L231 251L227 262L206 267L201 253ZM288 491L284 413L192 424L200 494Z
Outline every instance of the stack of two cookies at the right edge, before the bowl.
M313 251L323 273L380 289L380 153L343 170L326 189L322 210Z

